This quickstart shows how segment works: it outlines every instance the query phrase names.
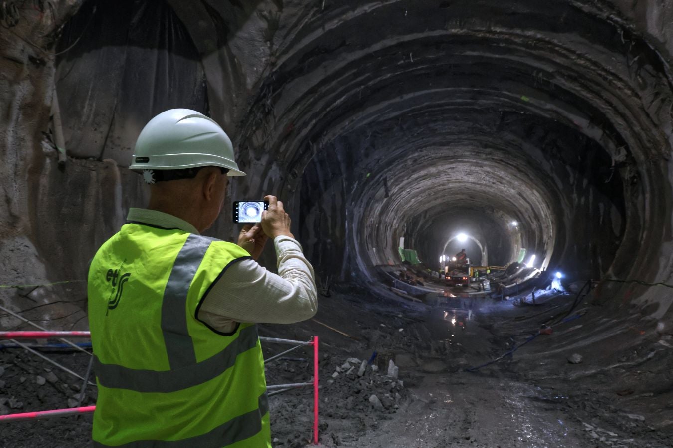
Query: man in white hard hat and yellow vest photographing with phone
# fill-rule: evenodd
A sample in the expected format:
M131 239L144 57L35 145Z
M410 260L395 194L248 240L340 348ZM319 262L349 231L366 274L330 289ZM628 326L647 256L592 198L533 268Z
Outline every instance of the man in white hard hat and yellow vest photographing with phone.
M305 320L317 307L283 203L266 196L269 210L238 245L201 236L227 175L244 173L225 132L189 109L145 126L131 169L151 184L149 206L130 210L89 271L94 446L271 447L254 323ZM268 238L279 275L255 261Z

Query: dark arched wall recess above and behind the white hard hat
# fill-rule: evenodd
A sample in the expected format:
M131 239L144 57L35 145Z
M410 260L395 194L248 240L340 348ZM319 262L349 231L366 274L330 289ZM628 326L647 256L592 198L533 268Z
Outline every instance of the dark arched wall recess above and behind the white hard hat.
M87 0L57 52L63 134L75 158L128 167L153 116L172 107L209 114L201 55L165 1Z

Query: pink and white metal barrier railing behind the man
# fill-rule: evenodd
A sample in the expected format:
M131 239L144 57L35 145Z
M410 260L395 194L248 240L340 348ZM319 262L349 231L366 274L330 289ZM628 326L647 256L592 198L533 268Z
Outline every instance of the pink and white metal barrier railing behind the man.
M62 337L81 337L88 338L91 337L91 332L89 331L0 331L0 339L48 339L48 338L62 338ZM273 339L273 338L263 338L260 340L268 341L271 343L285 343L285 344L298 344L294 349L301 347L302 345L312 345L313 346L313 381L309 383L299 383L299 384L285 384L277 386L269 386L269 389L274 388L285 388L284 390L289 390L293 386L308 386L313 384L313 437L312 442L318 444L318 337L312 337L311 341L308 343L302 343L300 341L288 341L285 339ZM290 349L281 353L284 355ZM280 355L276 355L271 359L276 359ZM72 414L87 414L94 412L96 406L83 406L79 408L65 408L65 409L54 409L54 410L38 410L35 412L21 412L19 414L7 414L0 415L0 422L9 422L17 420L36 420L38 418L50 418L50 417L59 417L67 416Z

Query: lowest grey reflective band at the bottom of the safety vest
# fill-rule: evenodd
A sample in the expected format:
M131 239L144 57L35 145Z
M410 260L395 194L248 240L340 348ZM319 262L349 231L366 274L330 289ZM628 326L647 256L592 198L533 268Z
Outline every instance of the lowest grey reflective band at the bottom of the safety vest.
M124 448L197 448L231 445L239 440L252 437L260 431L261 416L269 411L269 402L266 392L259 397L258 404L258 409L232 418L232 420L221 424L209 433L198 435L196 437L182 440L139 440L115 446ZM234 440L232 434L238 435L236 440ZM93 441L93 446L99 448L108 447L109 445L103 445L102 443Z

